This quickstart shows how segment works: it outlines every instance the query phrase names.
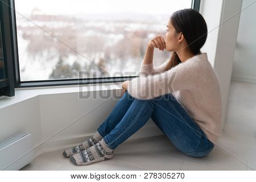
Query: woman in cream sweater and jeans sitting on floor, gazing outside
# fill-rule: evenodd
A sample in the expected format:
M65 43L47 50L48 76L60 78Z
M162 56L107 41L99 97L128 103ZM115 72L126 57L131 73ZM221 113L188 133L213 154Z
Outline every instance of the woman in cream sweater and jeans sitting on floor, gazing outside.
M207 53L200 51L206 39L207 24L196 10L172 14L164 37L148 42L139 77L123 82L125 93L96 134L63 155L76 165L111 159L150 117L184 154L208 155L221 135L221 95ZM171 59L155 68L154 48L172 52Z

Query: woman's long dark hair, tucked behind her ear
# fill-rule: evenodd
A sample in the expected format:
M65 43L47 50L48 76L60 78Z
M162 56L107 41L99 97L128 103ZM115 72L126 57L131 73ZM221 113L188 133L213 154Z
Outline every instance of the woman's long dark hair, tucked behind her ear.
M203 16L196 10L183 9L175 11L170 18L172 26L174 26L176 33L182 32L187 41L189 51L194 55L200 54L201 47L207 39L207 23ZM169 63L164 68L164 71L180 64L179 56L174 51L172 53Z

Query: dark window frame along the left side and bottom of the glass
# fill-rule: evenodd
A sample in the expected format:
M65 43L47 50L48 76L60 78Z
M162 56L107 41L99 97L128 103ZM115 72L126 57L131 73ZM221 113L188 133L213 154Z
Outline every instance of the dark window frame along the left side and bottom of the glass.
M111 83L111 82L123 82L125 80L130 80L130 78L137 77L137 76L122 76L122 77L71 78L71 79L63 79L63 80L58 79L58 80L20 81L18 42L17 42L17 31L16 31L16 15L15 15L15 2L14 2L15 0L2 0L2 1L8 3L10 6L10 7L7 7L6 5L3 6L3 10L5 10L3 11L3 19L6 19L6 22L4 22L3 26L5 27L6 30L9 30L9 34L10 34L10 35L7 35L8 38L5 40L5 43L8 43L5 45L6 46L5 51L8 50L7 54L9 55L9 57L7 57L7 63L8 63L7 72L9 76L9 82L6 82L6 84L9 85L9 88L11 88L11 93L13 93L13 96L14 96L14 88L101 84L101 83ZM200 0L192 0L191 8L199 11ZM0 85L0 89L1 89L1 85ZM12 95L12 94L9 94L9 95Z

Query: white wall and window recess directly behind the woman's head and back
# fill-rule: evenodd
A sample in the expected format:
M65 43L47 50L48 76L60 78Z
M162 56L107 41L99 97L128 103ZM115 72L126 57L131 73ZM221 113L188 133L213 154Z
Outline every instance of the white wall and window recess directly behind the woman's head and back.
M208 24L209 39L204 51L216 71L222 97L222 129L228 106L230 80L240 21L242 0L204 0L201 11ZM212 31L212 28L214 30Z

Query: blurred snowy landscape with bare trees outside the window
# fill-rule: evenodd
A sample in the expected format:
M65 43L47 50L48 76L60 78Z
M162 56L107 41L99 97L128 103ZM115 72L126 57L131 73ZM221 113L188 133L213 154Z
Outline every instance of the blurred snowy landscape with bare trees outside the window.
M171 15L46 14L35 5L26 14L21 10L16 5L21 81L135 76L148 41L165 34ZM154 65L169 58L170 52L155 49Z

